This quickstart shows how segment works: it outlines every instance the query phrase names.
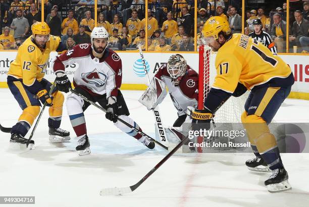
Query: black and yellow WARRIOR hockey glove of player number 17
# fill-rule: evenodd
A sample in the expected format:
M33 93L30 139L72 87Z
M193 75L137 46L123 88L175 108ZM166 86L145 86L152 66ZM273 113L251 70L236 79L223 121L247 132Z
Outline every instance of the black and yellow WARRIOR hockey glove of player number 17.
M212 120L213 114L208 109L195 109L194 112L192 112L191 117L193 130L198 131L200 129L210 129L210 122Z

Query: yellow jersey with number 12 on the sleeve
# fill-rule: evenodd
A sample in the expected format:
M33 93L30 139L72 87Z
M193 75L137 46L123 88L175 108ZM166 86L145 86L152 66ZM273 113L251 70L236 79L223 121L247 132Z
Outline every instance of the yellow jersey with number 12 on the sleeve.
M45 49L40 49L28 37L18 48L16 59L11 63L8 75L23 79L26 86L31 86L35 80L41 81L45 75L49 54L55 51L61 41L60 37L50 35Z

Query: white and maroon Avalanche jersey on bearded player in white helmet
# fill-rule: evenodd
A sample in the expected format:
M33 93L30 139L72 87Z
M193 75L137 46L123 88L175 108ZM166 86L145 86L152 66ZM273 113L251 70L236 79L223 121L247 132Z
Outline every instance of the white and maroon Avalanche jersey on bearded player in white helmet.
M57 57L54 71L65 72L73 63L78 64L74 73L74 86L87 90L90 94L116 96L122 81L122 63L120 57L111 49L106 49L102 58L92 55L91 44L78 44Z

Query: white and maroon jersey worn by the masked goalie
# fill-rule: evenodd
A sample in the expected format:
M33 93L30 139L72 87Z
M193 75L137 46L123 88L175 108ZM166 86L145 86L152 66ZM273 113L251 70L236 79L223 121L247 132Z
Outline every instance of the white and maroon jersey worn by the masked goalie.
M177 115L185 114L187 107L197 107L198 99L198 74L187 65L187 72L182 77L178 86L172 82L170 74L167 72L166 64L159 68L155 75L165 82L168 87L170 96L177 109Z

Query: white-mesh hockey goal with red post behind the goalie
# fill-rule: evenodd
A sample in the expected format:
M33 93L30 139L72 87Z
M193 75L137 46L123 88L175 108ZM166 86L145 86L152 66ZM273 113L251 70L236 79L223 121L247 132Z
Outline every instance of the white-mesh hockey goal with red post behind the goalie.
M216 53L211 52L210 47L206 45L199 46L199 88L198 88L198 109L203 108L205 97L207 97L211 86L214 83L216 76L215 68ZM248 97L248 91L240 97L231 96L215 113L212 121L212 126L216 130L236 130L233 127L239 127L241 120L241 114L244 111L244 104ZM239 124L235 124L239 123ZM208 142L212 145L212 142L221 141L222 137L212 137L211 139L205 139L204 137L198 137L197 143ZM226 137L225 137L226 139ZM224 140L235 141L235 140ZM198 152L208 152L209 150L224 150L222 148L209 149L205 147L197 147Z

